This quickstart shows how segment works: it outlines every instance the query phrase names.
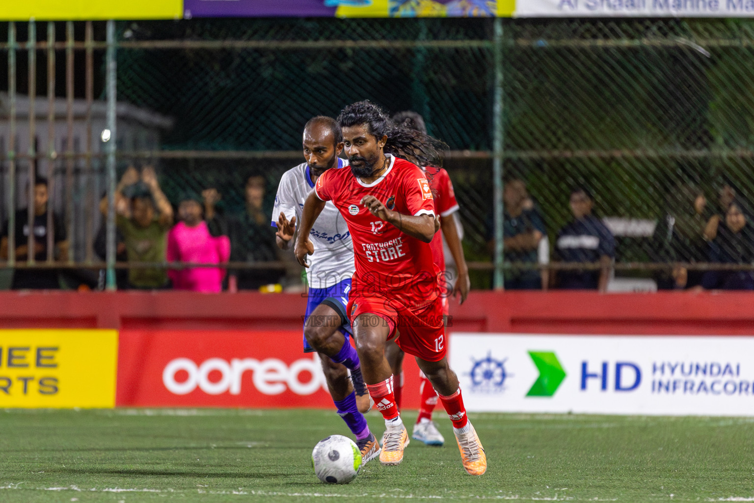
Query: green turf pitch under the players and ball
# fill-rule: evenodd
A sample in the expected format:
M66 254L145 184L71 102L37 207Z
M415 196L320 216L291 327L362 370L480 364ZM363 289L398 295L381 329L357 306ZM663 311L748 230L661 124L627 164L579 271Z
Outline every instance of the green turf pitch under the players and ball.
M331 486L310 464L317 440L348 433L329 411L0 410L0 501L754 501L752 419L470 418L483 477L461 468L443 418L452 443L414 442L403 465Z

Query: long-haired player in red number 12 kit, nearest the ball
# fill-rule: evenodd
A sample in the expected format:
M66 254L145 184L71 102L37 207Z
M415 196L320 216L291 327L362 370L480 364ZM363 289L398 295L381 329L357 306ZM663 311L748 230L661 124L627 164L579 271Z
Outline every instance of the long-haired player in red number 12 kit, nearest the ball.
M393 392L385 344L416 357L453 423L467 473L481 475L487 459L467 418L458 377L446 358L439 270L429 246L440 223L421 167L440 165L440 142L394 124L378 106L361 101L338 117L349 170L327 170L306 198L296 259L306 266L311 227L332 201L348 225L356 272L348 314L369 394L385 418L380 462L399 465L409 443ZM409 159L409 160L406 160Z

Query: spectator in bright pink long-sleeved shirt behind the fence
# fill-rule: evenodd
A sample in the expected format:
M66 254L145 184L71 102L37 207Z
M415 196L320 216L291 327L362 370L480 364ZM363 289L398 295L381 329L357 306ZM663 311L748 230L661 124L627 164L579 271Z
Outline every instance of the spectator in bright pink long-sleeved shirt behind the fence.
M181 219L167 235L167 262L219 264L228 262L231 243L228 236L214 237L202 219L198 197L185 195L178 206ZM175 290L217 293L222 291L224 268L201 267L169 269L167 275Z

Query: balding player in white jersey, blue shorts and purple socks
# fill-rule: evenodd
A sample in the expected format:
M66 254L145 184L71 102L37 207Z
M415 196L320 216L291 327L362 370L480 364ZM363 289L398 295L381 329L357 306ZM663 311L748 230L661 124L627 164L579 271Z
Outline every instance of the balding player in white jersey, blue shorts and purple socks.
M349 169L348 162L338 157L342 149L342 131L333 118L318 116L306 123L306 162L284 173L272 212L272 225L277 228L275 239L281 249L287 250L293 244L304 201L318 177L326 170ZM371 408L371 399L361 376L358 354L351 346L351 325L345 309L355 270L354 248L348 225L333 203L323 208L308 242L311 247L304 351L319 354L338 415L356 437L366 463L379 456L380 445L363 416Z

